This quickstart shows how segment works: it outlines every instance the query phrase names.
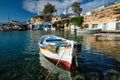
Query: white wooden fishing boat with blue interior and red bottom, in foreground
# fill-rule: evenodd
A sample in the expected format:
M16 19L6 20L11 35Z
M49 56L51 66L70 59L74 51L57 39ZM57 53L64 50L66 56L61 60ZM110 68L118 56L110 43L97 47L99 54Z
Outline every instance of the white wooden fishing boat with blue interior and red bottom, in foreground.
M73 56L75 55L74 45L77 43L55 35L45 35L38 41L40 53L56 65L70 70Z

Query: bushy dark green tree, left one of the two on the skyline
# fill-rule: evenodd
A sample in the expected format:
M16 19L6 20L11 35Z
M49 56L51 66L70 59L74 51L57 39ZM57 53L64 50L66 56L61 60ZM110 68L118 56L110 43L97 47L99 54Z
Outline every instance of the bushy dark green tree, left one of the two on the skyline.
M45 15L50 15L51 13L55 12L55 6L47 3L46 5L44 5L44 9L43 9L43 14Z

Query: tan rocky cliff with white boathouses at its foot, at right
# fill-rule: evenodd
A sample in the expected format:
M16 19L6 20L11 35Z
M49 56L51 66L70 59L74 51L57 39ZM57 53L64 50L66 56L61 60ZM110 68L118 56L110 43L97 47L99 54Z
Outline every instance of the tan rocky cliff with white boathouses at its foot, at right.
M83 28L120 30L120 2L94 9L83 16Z

